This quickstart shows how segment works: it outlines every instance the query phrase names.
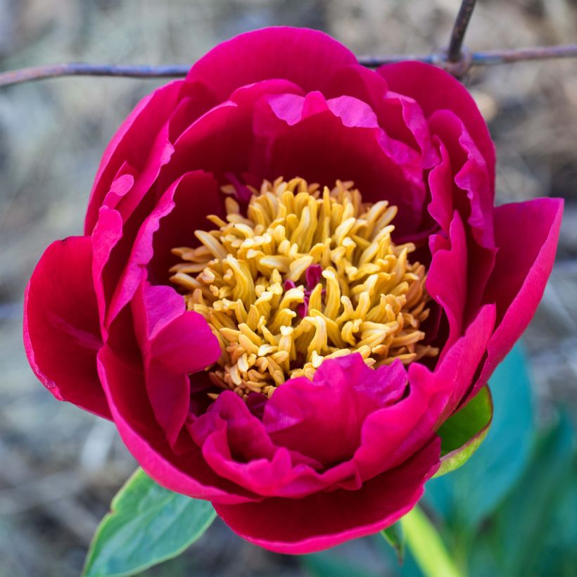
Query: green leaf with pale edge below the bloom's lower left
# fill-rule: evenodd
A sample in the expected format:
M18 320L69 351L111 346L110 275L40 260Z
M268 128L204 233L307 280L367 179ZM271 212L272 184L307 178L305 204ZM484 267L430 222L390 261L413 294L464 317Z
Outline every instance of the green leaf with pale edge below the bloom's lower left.
M172 493L142 469L110 505L90 545L85 577L134 575L176 557L214 521L210 502Z

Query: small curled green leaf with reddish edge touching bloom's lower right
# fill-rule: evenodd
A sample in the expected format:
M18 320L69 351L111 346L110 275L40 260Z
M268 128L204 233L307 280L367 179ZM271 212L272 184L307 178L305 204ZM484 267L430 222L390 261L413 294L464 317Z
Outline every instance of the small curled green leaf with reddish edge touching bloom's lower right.
M488 386L484 386L437 431L441 457L436 477L455 471L469 460L486 438L491 419L493 401Z

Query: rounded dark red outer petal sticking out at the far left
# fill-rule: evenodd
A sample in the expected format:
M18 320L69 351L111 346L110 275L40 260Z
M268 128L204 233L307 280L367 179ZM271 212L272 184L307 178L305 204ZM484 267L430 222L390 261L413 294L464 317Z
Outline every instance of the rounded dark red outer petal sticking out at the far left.
M110 419L96 372L102 346L87 236L52 243L24 302L24 344L36 376L59 400Z

